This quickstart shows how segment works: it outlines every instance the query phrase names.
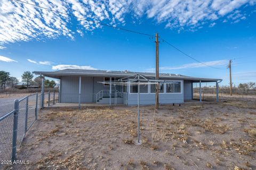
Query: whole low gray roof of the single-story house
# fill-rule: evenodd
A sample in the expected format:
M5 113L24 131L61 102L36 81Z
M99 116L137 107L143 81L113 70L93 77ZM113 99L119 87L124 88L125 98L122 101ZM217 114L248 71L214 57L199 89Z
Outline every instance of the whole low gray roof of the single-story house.
M136 74L145 75L146 77L155 78L155 73L148 72L130 72L130 71L109 71L109 70L82 70L82 69L65 69L59 71L34 71L34 74L44 75L45 77L60 79L62 76L92 76L92 77L129 77ZM196 78L189 77L181 74L171 73L159 73L159 78L162 79L182 79L192 80L194 82L215 82L222 79L210 79L210 78Z

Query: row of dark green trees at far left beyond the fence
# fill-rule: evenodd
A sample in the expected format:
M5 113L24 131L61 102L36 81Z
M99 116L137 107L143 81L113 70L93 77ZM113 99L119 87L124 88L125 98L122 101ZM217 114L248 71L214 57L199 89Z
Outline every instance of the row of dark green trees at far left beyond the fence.
M25 71L21 75L21 81L23 82L23 86L42 86L42 78L40 76L35 79L33 73L30 71ZM19 83L19 80L15 77L10 77L10 73L6 71L0 71L0 89L5 89L6 87L15 87ZM54 80L45 80L45 87L53 88L56 86L56 82Z

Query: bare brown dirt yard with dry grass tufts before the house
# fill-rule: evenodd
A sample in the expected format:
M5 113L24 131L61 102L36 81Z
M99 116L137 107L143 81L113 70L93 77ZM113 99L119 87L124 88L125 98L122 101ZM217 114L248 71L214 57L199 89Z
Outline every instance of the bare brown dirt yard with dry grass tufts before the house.
M47 109L18 151L13 169L256 169L256 102ZM153 138L152 138L153 126ZM152 145L153 141L153 145Z

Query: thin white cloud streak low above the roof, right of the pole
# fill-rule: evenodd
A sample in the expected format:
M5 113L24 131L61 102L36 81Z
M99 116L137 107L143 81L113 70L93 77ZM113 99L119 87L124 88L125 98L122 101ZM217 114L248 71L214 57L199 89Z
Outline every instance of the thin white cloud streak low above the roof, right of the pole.
M179 69L194 69L199 67L207 67L207 66L226 66L228 64L228 60L216 60L216 61L210 61L210 62L204 62L203 63L189 63L189 64L183 64L179 66L164 66L159 67L159 70L165 71L165 70L179 70ZM154 72L155 69L147 69L149 72Z

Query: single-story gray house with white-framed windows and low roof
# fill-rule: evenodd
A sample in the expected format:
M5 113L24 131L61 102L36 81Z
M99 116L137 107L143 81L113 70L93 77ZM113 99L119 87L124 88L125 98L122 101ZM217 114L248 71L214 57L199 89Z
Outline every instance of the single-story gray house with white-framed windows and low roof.
M113 104L137 105L138 85L129 83L110 85L104 82L116 82L122 78L126 78L125 82L129 82L137 74L155 79L155 73L129 71L66 69L53 72L35 71L33 73L60 80L60 103L109 104L111 102ZM218 85L221 81L221 79L195 78L169 73L159 74L159 80L165 81L165 83L159 82L159 104L184 103L185 100L193 99L193 82L199 82L201 89L201 82L216 82ZM140 104L155 104L155 84L148 83L139 86L139 88ZM202 99L200 98L200 100Z

